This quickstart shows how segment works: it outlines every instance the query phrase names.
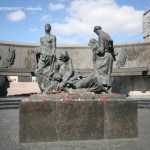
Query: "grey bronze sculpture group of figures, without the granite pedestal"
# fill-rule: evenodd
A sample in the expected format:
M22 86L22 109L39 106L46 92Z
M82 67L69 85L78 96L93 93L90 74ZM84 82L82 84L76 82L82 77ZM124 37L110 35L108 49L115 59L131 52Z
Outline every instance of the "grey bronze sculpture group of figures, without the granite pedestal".
M115 61L113 41L102 31L100 26L94 27L98 40L91 39L89 46L93 51L94 72L83 77L73 69L72 59L67 51L56 58L56 37L51 33L50 24L45 25L46 35L40 39L40 47L35 49L37 69L35 75L41 93L52 94L68 88L87 89L89 92L111 93L112 66Z

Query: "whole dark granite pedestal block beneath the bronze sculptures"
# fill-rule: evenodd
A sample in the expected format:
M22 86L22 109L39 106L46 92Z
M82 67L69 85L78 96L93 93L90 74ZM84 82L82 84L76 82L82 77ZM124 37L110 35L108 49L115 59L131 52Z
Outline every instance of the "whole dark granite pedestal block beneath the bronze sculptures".
M135 100L29 101L19 114L21 143L138 137Z

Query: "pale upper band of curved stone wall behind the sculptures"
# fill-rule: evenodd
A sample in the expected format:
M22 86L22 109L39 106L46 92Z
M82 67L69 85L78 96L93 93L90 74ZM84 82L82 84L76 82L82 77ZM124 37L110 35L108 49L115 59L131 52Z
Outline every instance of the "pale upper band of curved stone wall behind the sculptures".
M38 46L39 44L0 41L0 67L2 67L7 57L9 47L16 49L16 57L12 68L36 67L36 60L32 50ZM121 57L122 52L125 52L127 56L124 65L125 68L150 66L150 41L114 44L114 49L118 53L116 56L117 60ZM64 50L68 51L75 69L93 68L92 50L87 45L58 45L56 51L57 57ZM114 68L116 68L116 62L114 62Z

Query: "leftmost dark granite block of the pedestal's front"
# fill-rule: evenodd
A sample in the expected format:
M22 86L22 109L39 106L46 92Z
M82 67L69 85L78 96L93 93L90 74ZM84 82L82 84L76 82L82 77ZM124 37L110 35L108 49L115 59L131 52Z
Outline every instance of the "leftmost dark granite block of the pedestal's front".
M26 102L20 105L19 141L57 140L57 102Z

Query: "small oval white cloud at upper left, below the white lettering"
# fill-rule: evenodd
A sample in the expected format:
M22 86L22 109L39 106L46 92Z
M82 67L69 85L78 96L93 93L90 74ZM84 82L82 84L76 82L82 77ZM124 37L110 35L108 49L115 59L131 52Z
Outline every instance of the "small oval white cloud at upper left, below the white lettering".
M15 21L15 22L21 21L25 19L25 17L26 17L25 13L21 10L11 12L7 15L8 20Z

